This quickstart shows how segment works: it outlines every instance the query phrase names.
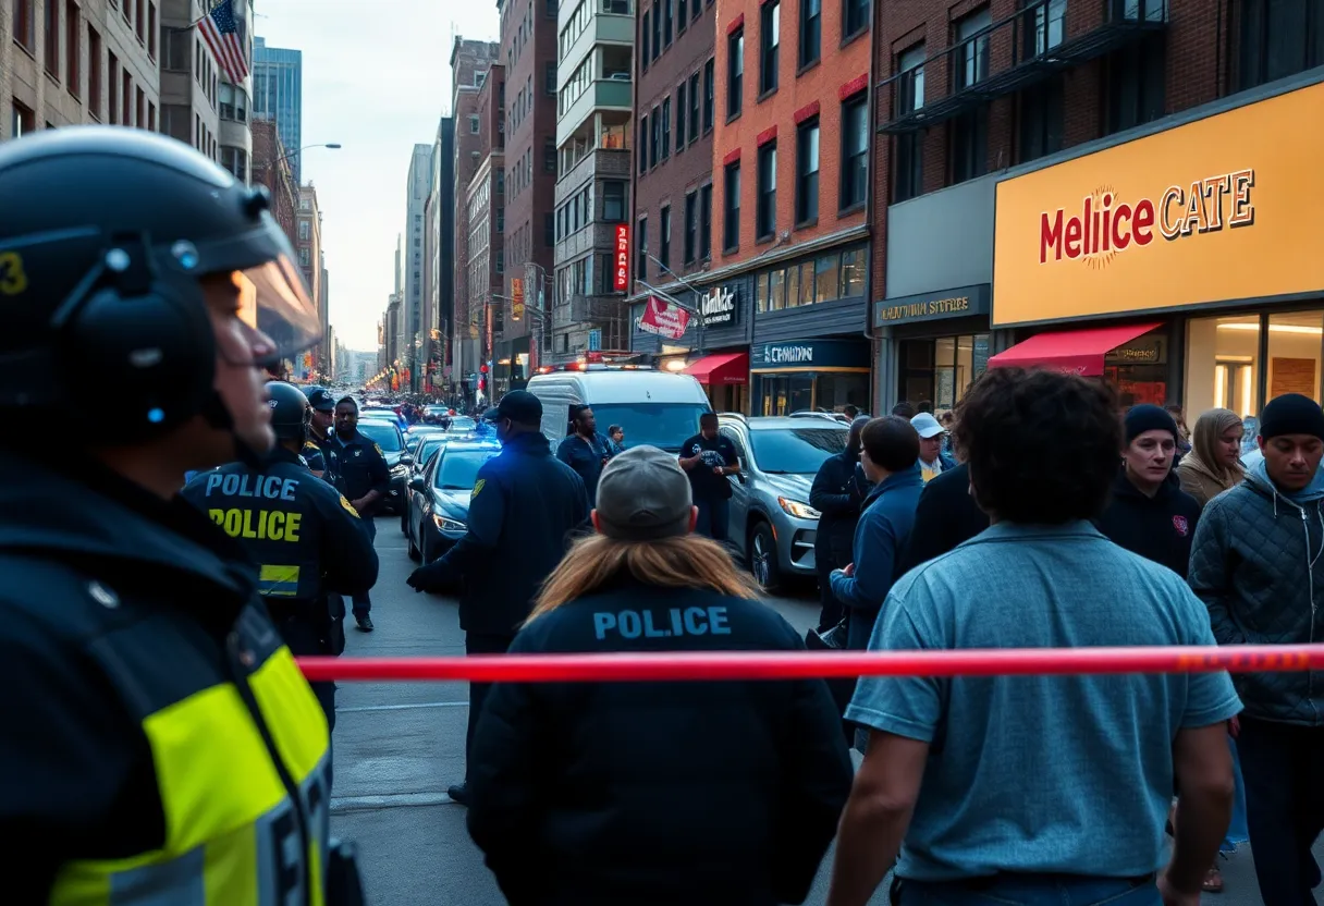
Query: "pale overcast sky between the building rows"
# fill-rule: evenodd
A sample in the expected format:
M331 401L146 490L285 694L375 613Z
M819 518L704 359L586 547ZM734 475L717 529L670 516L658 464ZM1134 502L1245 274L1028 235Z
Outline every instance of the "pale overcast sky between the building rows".
M450 110L450 38L495 41L495 0L257 0L267 46L303 52L303 179L322 204L331 323L377 348L416 143Z

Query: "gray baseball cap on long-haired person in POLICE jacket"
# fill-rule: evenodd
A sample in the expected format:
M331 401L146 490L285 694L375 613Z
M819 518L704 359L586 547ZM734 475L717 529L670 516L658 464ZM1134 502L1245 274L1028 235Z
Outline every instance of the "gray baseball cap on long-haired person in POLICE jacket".
M690 532L694 494L674 453L632 446L597 479L598 530L620 540L657 540Z

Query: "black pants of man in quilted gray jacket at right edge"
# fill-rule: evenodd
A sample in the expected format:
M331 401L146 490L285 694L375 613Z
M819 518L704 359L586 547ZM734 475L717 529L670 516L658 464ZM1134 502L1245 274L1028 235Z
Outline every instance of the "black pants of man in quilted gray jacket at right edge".
M1243 717L1237 736L1255 878L1264 906L1315 906L1324 830L1324 727Z

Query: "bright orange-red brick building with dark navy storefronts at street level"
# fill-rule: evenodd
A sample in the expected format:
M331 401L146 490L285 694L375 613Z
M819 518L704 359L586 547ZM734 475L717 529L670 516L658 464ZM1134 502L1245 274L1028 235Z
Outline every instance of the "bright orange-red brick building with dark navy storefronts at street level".
M871 19L869 0L718 8L708 355L687 371L748 368L755 415L869 404Z

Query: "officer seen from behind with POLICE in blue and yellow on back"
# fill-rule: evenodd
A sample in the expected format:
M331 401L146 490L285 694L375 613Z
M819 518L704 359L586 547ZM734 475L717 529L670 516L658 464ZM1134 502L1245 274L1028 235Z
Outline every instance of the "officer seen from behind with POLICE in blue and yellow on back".
M290 650L339 654L344 650L340 595L372 588L377 552L350 501L314 479L302 461L312 412L307 397L282 381L270 381L266 391L275 432L271 454L260 468L232 462L193 478L184 499L257 560L258 591ZM315 682L312 691L334 730L335 683Z

